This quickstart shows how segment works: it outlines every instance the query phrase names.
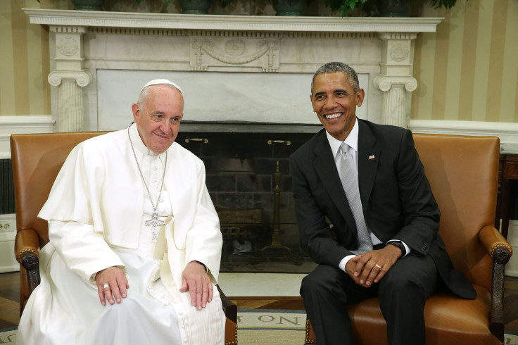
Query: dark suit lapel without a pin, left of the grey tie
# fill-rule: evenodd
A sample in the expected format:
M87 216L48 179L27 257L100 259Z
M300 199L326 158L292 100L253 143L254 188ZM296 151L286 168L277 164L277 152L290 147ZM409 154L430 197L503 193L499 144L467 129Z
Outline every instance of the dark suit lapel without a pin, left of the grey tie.
M356 233L356 223L353 217L353 213L350 211L349 203L345 192L343 192L342 182L336 165L334 163L334 157L331 154L331 147L327 141L325 131L320 133L317 145L315 146L315 161L313 166L317 172L320 181L324 185L329 196L333 200L336 208L339 209L343 218L346 220L351 230Z

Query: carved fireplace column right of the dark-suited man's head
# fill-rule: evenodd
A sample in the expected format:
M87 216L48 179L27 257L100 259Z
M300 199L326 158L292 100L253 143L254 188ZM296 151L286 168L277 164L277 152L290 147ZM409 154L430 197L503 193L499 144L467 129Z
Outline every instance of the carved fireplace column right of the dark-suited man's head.
M384 92L382 123L408 127L406 92L417 89L412 77L414 59L413 33L381 33L381 73L374 78L374 87Z

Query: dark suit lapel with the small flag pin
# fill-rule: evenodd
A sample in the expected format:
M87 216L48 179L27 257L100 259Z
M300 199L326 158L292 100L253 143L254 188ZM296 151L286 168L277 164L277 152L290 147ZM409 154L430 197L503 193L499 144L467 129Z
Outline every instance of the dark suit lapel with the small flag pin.
M363 213L368 205L374 187L374 180L381 156L381 150L374 147L376 138L362 120L358 120L358 185L362 199Z

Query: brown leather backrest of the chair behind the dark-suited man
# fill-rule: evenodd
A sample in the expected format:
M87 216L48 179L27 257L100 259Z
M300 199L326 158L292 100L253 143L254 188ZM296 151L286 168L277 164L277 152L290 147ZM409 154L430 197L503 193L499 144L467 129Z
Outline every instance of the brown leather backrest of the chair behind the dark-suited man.
M439 233L453 266L491 291L491 258L478 235L494 226L500 139L414 134L414 140L441 210Z

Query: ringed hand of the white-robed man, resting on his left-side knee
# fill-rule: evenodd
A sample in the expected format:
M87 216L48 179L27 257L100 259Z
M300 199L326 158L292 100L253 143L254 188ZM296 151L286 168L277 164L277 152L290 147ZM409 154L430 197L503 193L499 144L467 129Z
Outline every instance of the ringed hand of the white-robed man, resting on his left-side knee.
M130 287L124 272L115 266L97 272L95 282L97 292L99 293L99 300L103 306L106 305L106 300L110 304L115 303L115 301L117 303L122 302L122 299L125 299L127 296L126 289ZM106 284L108 284L107 287Z

